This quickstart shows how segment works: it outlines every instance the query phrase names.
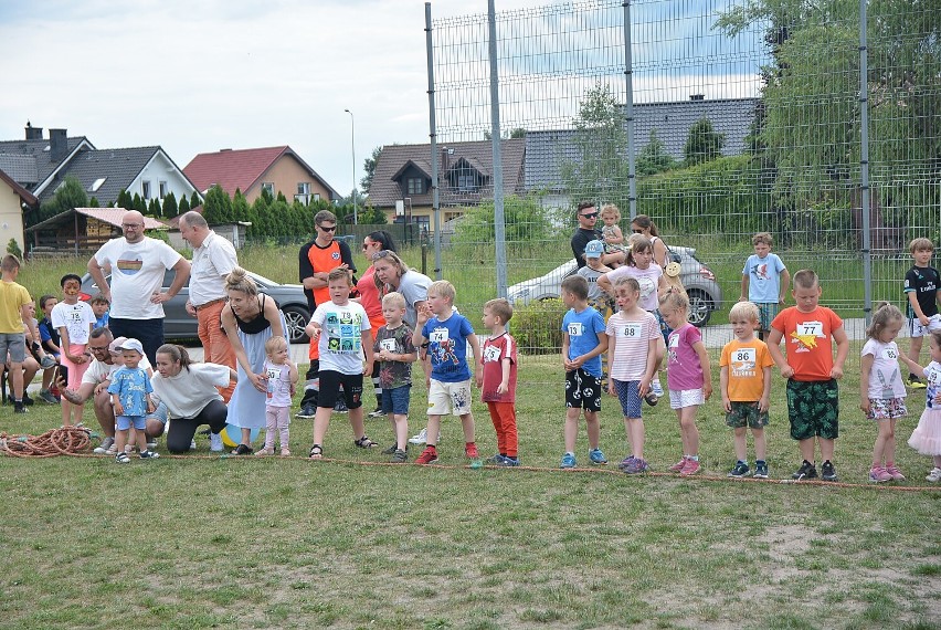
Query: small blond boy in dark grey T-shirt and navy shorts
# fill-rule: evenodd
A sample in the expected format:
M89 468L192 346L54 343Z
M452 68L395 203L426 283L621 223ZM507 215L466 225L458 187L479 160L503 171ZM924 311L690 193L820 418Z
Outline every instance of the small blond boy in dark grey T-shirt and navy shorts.
M403 464L409 459L409 398L412 392L412 364L419 354L412 345L411 327L404 322L405 296L398 292L382 298L382 317L385 325L376 334L373 355L379 360L379 389L382 391L379 407L392 422L395 442L382 451L392 455L393 464Z

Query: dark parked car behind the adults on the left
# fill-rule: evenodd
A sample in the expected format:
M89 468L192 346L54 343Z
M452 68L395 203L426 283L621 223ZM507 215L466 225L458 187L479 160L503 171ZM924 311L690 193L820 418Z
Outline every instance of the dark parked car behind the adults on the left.
M304 287L299 284L278 284L273 280L268 280L256 273L249 272L258 290L265 295L274 297L281 305L284 319L287 323L287 336L292 344L307 343L307 335L304 334L304 327L310 319L310 311L307 308L307 296L304 295ZM110 280L110 276L108 276ZM170 286L173 280L173 272L167 272L163 276L163 291ZM98 293L98 286L92 280L91 274L85 274L82 279L81 298L88 301ZM163 338L168 342L177 342L181 339L197 339L197 319L187 313L187 300L190 297L189 283L182 287L180 292L163 304Z

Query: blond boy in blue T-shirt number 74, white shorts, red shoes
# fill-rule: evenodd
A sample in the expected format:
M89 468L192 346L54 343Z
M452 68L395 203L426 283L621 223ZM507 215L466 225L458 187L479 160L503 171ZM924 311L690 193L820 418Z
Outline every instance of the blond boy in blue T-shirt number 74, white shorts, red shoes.
M479 465L480 455L474 441L474 416L470 413L470 368L467 366L467 344L474 353L475 376L480 374L480 343L470 322L454 311L456 292L446 280L429 286L429 298L417 313L412 344L427 351L431 371L425 367L429 386L427 445L415 460L416 464L433 464L437 449L433 440L440 435L441 417L454 413L461 417L464 429L464 454L470 464ZM432 315L434 315L432 317Z

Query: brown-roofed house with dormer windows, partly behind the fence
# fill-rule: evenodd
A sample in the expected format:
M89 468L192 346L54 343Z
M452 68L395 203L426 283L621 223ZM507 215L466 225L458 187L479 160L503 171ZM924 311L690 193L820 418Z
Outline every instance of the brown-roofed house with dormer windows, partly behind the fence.
M494 196L494 155L490 140L438 145L438 202L442 222ZM522 138L500 140L504 190L524 190ZM432 222L431 145L387 145L376 162L369 199L390 221L414 222L430 230ZM397 216L397 207L405 216ZM411 219L411 220L409 220Z

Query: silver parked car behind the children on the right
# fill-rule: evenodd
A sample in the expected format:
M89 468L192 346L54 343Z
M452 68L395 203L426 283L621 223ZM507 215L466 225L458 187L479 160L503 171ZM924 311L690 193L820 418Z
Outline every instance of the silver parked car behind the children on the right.
M689 323L705 326L713 311L722 307L722 290L712 271L699 262L692 248L674 246L670 258L680 265L679 279L689 295ZM578 266L574 260L560 264L546 275L525 280L507 288L507 300L514 305L529 304L539 300L558 298L562 280L569 277Z

